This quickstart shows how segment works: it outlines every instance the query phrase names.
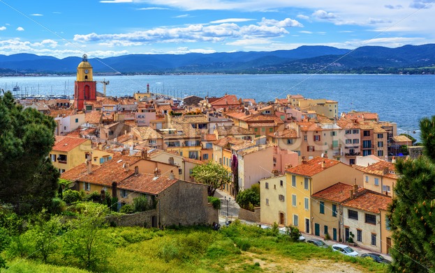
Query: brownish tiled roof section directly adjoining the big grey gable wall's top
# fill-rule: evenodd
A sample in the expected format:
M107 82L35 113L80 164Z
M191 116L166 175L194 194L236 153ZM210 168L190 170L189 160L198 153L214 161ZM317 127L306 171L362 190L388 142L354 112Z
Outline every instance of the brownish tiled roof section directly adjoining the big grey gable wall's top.
M117 187L132 192L160 194L178 181L178 179L170 179L167 176L158 176L156 178L154 174L138 173L119 182Z

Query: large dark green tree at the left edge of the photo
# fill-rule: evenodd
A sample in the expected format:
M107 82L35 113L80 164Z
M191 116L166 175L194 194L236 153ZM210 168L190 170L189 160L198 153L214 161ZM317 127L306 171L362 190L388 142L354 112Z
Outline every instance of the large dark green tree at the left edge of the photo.
M59 171L48 158L55 127L50 116L15 104L12 93L0 98L0 202L20 214L47 206L57 192Z

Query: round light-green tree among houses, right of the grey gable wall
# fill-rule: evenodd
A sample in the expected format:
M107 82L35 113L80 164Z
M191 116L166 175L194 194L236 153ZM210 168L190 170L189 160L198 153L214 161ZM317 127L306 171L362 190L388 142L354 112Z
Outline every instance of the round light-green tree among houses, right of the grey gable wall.
M191 176L197 182L208 186L207 192L209 196L214 196L216 189L231 181L230 172L220 164L212 161L193 168Z

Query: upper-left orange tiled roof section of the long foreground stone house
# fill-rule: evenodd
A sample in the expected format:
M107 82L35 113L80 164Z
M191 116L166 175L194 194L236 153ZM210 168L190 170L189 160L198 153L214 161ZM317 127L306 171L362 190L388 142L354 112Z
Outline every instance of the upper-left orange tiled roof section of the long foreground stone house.
M112 182L121 182L131 176L135 171L131 167L136 162L140 161L140 157L129 157L126 155L115 155L110 161L105 162L100 168L92 173L82 176L80 181L90 182L96 185L112 186ZM124 164L128 163L128 171L124 170Z

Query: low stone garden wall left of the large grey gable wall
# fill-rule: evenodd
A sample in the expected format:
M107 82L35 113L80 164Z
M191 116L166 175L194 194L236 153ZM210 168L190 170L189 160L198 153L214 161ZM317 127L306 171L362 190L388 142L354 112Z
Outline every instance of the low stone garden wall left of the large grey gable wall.
M147 210L145 212L136 212L132 214L110 215L106 217L109 224L116 226L142 226L145 228L152 227L152 217L158 221L157 210Z

